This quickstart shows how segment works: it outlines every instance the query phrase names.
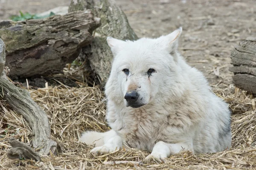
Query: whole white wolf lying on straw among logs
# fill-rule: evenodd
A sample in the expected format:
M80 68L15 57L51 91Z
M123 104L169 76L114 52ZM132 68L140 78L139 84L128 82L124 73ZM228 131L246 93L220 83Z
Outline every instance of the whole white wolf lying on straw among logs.
M179 28L157 39L107 38L114 59L105 87L112 130L87 131L80 141L105 154L122 146L151 150L164 161L180 150L214 153L231 147L230 110L206 78L178 53Z

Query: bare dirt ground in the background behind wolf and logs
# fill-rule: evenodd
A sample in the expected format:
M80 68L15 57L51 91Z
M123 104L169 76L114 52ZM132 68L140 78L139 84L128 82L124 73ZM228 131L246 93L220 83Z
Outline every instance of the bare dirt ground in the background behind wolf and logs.
M0 0L0 20L18 11L32 14L70 0ZM116 0L139 37L158 37L183 27L180 52L210 83L230 84L230 52L256 37L255 0Z

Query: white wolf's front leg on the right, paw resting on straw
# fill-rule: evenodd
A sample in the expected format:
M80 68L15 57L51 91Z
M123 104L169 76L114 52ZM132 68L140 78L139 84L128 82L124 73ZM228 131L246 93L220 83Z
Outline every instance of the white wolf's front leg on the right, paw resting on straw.
M191 144L185 143L177 143L177 144L167 144L165 142L157 142L150 155L145 158L145 161L157 161L157 162L164 162L167 157L170 155L174 155L175 153L179 153L180 150L192 150L193 147Z

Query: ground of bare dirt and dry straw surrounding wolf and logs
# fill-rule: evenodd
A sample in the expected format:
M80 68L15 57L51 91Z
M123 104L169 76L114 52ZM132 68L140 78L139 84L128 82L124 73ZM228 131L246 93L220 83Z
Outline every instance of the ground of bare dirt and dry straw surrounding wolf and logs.
M248 146L256 138L256 110L253 98L232 87L230 52L247 37L256 37L255 0L116 0L127 14L131 27L139 37L158 37L183 27L180 52L203 71L213 91L224 98L235 113L232 118L233 149L223 153L172 156L166 164L104 165L106 161L141 161L148 154L140 150L124 150L96 159L89 156L90 147L78 142L81 131L107 130L104 123L105 104L98 88L54 87L30 90L32 98L47 112L52 136L61 145L57 157L44 157L44 163L9 161L6 150L10 136L29 143L32 132L17 113L0 110L0 167L3 169L256 169L256 150ZM39 13L70 0L0 0L0 19L17 14L21 9ZM1 105L1 102L0 102ZM25 122L25 123L24 123ZM0 123L1 124L1 123ZM2 129L5 131L3 131ZM31 143L31 142L30 142Z

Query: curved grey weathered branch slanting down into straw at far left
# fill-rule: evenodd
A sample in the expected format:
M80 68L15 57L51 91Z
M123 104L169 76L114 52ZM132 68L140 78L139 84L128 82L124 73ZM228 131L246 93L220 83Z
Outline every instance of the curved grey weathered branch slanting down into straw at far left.
M0 39L0 61L5 60L4 43ZM1 63L2 64L2 63ZM4 63L3 63L4 64ZM46 113L32 100L28 91L16 87L6 77L5 71L0 76L0 98L20 113L34 133L33 147L41 148L41 153L48 154L51 150L55 153L57 143L53 141L50 133L49 120Z

